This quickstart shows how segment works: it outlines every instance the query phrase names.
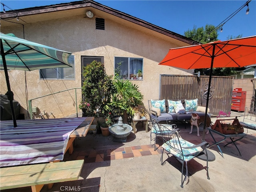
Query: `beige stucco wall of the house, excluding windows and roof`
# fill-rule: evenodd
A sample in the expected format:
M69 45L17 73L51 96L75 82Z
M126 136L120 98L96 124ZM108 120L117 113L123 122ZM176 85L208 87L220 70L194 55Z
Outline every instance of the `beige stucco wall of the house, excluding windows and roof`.
M100 15L98 15L100 17ZM3 33L14 33L23 38L21 25L1 28ZM152 34L155 34L152 33ZM193 70L180 70L169 66L159 66L158 63L166 56L169 48L177 47L172 38L153 36L152 34L105 19L105 30L95 30L95 17L84 18L84 15L70 18L52 19L47 21L28 23L24 25L24 38L47 46L72 52L75 56L75 80L40 80L39 71L25 72L10 70L9 79L14 99L20 102L27 116L27 100L46 94L59 92L70 88L81 87L81 56L104 56L107 74L114 74L114 57L143 58L143 80L132 80L144 95L147 107L148 99L159 98L160 74L188 74ZM175 44L173 43L175 42ZM184 42L181 43L184 46ZM25 86L26 81L26 86ZM0 92L5 94L6 82L4 72L0 72ZM27 87L27 97L26 97ZM77 101L81 100L81 90L77 90ZM58 93L52 96L32 101L42 112L45 110L49 118L60 118L76 113L75 91ZM36 115L35 118L40 118Z

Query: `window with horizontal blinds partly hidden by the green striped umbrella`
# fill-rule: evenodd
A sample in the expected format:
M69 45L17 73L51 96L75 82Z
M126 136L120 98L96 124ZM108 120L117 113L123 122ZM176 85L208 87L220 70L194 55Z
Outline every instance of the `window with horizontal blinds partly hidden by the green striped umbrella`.
M70 55L68 62L72 67L40 69L40 79L75 80L74 55Z

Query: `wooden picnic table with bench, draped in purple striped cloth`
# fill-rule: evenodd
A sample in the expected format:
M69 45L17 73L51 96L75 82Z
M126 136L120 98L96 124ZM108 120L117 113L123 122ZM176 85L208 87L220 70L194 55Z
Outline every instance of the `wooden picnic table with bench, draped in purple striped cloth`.
M61 132L62 128L68 128L66 131L63 132L63 135L60 134L58 135L59 137L64 137L68 133L70 133L70 130L72 132L68 134L68 142L67 144L64 144L65 149L63 148L63 156L66 153L67 150L69 150L69 153L72 154L73 152L73 142L76 138L78 137L85 137L90 125L92 124L94 120L94 117L84 117L84 118L61 118L61 119L44 119L44 120L21 120L17 121L18 128L14 128L12 125L12 121L1 121L0 122L0 129L3 131L1 132L1 145L3 146L9 146L9 148L0 148L0 152L2 154L7 153L7 156L1 157L1 162L3 160L5 166L9 167L4 167L2 168L2 163L1 163L1 171L0 171L0 181L1 181L1 190L2 189L10 189L10 188L19 188L23 186L31 186L32 192L39 192L44 184L48 184L48 188L52 188L54 182L64 182L64 181L71 181L71 180L77 180L81 170L82 166L84 164L84 160L76 160L72 162L60 162L60 159L58 160L53 160L49 164L49 159L43 159L38 162L46 162L44 164L27 164L27 163L22 163L20 160L16 163L17 165L22 165L22 166L12 166L11 164L8 164L9 162L11 163L11 159L8 156L8 152L11 148L15 148L16 145L18 147L25 146L24 151L27 149L26 145L29 147L34 146L33 142L36 140L46 140L45 142L49 142L47 140L47 137L51 138L51 134L56 134L56 132ZM37 129L38 128L38 129ZM56 130L55 130L56 129ZM16 132L16 130L20 132ZM34 136L30 136L30 131L35 134ZM67 133L68 132L68 133ZM47 137L44 138L43 136L40 137L39 135L43 135L44 133L47 133ZM49 134L50 133L50 134ZM28 138L22 138L22 134L28 135ZM38 138L36 135L38 134ZM8 139L9 138L9 139ZM48 138L49 139L49 138ZM56 138L55 138L56 139ZM58 137L57 137L58 139ZM62 139L60 139L62 140ZM30 143L31 142L31 143ZM58 143L58 142L56 142ZM54 143L54 145L56 145ZM38 142L38 145L40 146L40 142ZM44 145L44 143L42 143ZM14 147L12 147L14 146ZM37 146L38 147L38 146ZM34 146L34 149L32 150L40 150L40 148L37 148ZM60 148L58 146L58 148ZM53 146L49 145L49 148L52 149ZM41 149L42 150L42 149ZM46 156L51 155L50 153L47 155L47 150L46 150ZM18 151L12 151L12 153L19 153ZM13 157L14 161L18 158L23 158L22 155L28 155L25 152L20 153L19 156ZM8 162L9 158L9 162ZM33 157L36 158L36 157ZM33 160L33 159L32 159ZM38 163L34 162L31 160L31 163ZM61 167L64 168L61 168ZM47 168L47 169L46 169ZM27 170L30 170L31 172L28 172ZM40 175L40 177L38 177ZM17 177L18 176L18 177ZM17 180L17 178L19 178ZM15 182L13 182L15 180Z

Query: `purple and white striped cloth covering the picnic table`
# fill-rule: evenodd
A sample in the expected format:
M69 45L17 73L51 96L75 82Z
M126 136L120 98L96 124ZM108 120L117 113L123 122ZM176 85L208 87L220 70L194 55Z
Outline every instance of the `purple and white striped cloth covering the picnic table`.
M70 134L86 117L0 121L0 167L63 160Z

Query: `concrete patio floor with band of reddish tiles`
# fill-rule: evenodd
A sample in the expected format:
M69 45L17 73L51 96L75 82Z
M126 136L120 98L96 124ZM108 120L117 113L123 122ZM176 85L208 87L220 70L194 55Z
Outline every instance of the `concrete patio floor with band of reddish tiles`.
M232 116L243 115L232 112ZM233 117L234 118L234 117ZM238 117L240 121L242 117ZM211 118L212 122L216 118ZM188 134L190 126L177 123L181 136L194 144L201 142L196 136L196 128ZM149 130L151 124L149 125ZM189 183L180 187L181 164L174 158L168 158L163 166L160 163L160 148L154 151L154 141L150 143L150 131L145 131L141 123L137 124L136 134L128 136L127 142L113 142L113 137L88 133L85 138L78 138L74 152L65 154L64 160L84 159L85 163L80 180L54 184L42 192L82 191L82 192L167 192L167 191L208 191L208 192L255 192L256 191L256 131L244 129L245 138L236 144L224 147L220 144L224 158L217 146L210 148L215 160L209 162L209 176L206 176L206 161L195 158L188 163ZM218 138L217 134L214 134ZM153 136L154 137L154 136ZM210 134L205 140L213 143ZM227 140L229 142L229 140ZM157 144L162 140L157 139ZM164 154L164 159L168 156ZM28 192L30 188L3 190L3 192Z

